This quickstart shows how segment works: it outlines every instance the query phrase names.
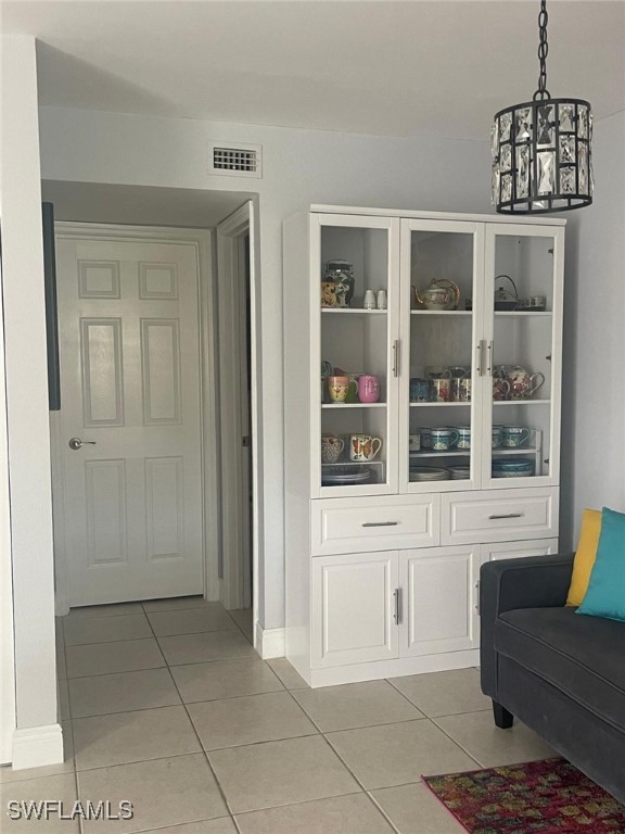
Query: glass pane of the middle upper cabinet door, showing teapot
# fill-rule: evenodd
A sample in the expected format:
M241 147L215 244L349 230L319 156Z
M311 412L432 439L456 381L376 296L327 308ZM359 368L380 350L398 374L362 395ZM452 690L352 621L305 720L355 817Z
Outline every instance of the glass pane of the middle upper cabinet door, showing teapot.
M471 233L410 239L409 478L472 477L473 249Z

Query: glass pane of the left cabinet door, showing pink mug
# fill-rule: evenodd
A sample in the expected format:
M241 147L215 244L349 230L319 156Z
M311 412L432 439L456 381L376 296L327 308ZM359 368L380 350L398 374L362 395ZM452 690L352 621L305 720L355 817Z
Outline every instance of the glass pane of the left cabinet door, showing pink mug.
M321 484L387 482L388 231L321 229Z

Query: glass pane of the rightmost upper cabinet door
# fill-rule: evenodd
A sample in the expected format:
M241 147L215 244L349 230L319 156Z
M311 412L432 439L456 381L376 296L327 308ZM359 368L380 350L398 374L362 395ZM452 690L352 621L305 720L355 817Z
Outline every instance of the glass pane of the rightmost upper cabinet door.
M553 239L497 235L492 476L528 478L550 470Z

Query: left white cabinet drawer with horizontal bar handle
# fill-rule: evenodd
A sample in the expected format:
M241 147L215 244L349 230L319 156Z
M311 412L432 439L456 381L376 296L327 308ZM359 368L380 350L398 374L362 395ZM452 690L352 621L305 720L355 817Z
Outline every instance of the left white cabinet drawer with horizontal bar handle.
M438 544L441 495L379 495L312 502L314 556L432 547Z

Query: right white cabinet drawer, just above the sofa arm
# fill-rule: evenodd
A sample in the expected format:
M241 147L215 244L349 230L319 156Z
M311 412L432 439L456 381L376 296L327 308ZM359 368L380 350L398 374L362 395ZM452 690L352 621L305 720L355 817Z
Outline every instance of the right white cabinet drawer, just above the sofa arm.
M508 542L558 535L557 489L442 495L442 543Z

